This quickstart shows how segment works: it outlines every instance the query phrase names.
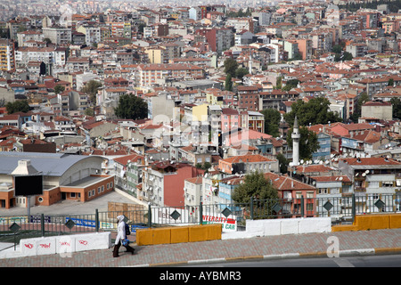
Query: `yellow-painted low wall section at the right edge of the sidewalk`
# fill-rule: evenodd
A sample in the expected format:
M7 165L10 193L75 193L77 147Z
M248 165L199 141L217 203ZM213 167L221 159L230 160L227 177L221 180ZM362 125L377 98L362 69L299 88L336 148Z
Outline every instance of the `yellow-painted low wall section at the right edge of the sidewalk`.
M377 214L356 216L354 224L335 225L331 232L366 231L401 228L401 214Z

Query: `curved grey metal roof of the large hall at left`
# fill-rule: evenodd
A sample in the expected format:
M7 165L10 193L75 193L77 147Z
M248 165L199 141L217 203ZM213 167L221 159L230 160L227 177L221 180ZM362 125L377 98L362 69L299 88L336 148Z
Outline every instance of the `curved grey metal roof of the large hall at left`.
M65 153L0 151L0 175L10 175L18 166L18 160L29 159L32 167L43 175L61 176L78 161L88 158L91 157Z

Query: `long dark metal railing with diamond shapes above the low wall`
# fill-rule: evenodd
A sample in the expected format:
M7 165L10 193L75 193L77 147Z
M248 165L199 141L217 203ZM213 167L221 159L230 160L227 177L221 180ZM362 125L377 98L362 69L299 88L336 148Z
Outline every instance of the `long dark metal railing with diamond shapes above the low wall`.
M184 224L224 224L240 231L247 219L331 217L333 224L352 222L356 215L396 213L401 193L322 198L250 199L249 203L200 204L185 207L148 207L142 210L107 211L86 215L0 216L0 241L28 237L74 234L78 232L117 231L117 216L124 215L131 232L137 228Z

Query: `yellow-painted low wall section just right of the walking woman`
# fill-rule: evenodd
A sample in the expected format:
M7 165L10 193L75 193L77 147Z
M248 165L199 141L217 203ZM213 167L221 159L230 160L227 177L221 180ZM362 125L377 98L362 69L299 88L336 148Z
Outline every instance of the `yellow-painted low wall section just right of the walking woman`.
M164 243L221 240L221 224L202 224L136 230L138 246Z

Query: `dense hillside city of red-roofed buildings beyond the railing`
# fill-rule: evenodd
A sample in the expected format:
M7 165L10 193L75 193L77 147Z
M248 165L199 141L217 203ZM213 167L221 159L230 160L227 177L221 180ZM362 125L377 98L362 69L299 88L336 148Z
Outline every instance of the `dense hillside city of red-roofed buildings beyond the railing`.
M0 208L400 211L399 2L184 4L0 1ZM43 194L21 199L29 171Z

